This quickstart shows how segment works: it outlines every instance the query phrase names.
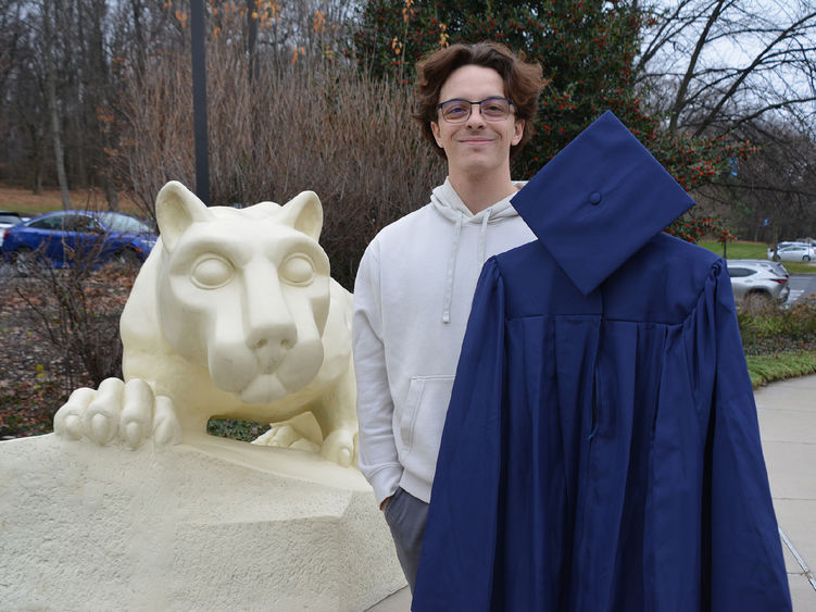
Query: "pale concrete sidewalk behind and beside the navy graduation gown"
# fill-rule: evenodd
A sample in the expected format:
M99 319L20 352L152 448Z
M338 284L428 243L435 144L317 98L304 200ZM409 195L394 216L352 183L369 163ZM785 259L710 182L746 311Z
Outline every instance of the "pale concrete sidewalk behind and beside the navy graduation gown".
M794 612L816 612L816 376L758 389L765 463ZM407 612L407 587L371 609Z

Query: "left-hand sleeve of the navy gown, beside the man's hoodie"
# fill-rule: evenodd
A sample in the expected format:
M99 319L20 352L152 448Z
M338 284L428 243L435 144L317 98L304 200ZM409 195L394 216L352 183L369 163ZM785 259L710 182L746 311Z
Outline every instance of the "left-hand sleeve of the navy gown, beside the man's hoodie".
M504 386L504 288L490 259L476 287L442 433L414 611L491 607Z

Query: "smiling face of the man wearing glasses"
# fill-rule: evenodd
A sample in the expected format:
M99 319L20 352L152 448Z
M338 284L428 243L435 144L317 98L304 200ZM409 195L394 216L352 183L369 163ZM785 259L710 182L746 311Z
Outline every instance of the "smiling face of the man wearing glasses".
M439 101L454 98L478 102L487 98L503 98L504 82L493 68L466 65L448 77L439 92ZM431 122L437 145L448 157L448 172L484 173L510 166L510 148L522 140L524 121L516 120L515 109L506 118L487 121L474 104L470 116L463 123L448 123L441 114Z

